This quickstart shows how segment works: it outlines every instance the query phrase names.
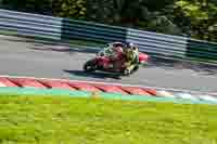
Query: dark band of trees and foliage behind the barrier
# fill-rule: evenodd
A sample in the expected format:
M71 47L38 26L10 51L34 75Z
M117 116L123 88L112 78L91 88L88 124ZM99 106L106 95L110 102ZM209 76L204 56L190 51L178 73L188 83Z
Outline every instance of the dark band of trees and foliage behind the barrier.
M1 6L217 41L216 0L1 0Z

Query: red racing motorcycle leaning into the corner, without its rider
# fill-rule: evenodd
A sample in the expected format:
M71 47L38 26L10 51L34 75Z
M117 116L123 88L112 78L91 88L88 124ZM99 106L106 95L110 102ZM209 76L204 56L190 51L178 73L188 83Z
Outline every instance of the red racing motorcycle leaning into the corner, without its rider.
M105 48L104 50L98 52L94 58L86 62L84 65L84 70L87 73L92 73L95 70L107 71L107 73L119 73L122 76L129 76L133 71L138 70L140 65L148 63L148 60L150 57L148 54L140 52L139 63L131 70L126 69L126 66L124 65L124 62L125 62L124 58L119 62L120 63L119 68L116 69L113 67L114 62L111 61L110 58L112 54L111 52L106 52L107 50L108 49ZM118 55L118 56L124 57L123 55ZM106 65L111 65L111 67L107 67Z

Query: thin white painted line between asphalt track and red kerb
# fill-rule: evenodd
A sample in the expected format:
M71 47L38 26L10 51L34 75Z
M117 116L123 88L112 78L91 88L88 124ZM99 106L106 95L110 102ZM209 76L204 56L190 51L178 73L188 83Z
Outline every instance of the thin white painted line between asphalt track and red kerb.
M10 76L10 75L0 75L0 77L10 77L10 78L28 78L28 79L38 79L38 80L61 80L64 82L86 82L86 83L97 83L97 84L110 84L110 86L119 86L119 87L139 87L143 89L154 89L156 91L173 91L173 92L182 92L182 93L195 93L195 94L208 94L210 92L200 92L192 90L183 90L183 89L168 89L168 88L159 88L159 87L145 87L138 84L122 84L122 83L112 83L112 82L99 82L99 81L85 81L85 80L71 80L71 79L56 79L56 78L37 78L37 77L25 77L25 76Z

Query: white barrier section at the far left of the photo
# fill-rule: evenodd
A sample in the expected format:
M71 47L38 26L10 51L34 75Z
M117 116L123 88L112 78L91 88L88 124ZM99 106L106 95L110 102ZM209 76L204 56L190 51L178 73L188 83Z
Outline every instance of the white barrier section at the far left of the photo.
M0 29L21 36L61 40L62 18L0 9Z

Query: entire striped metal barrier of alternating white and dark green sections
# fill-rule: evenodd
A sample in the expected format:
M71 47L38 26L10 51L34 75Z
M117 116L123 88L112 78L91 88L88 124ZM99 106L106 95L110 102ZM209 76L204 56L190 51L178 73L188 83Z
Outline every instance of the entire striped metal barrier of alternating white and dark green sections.
M217 43L214 42L91 22L0 10L0 29L51 40L131 41L151 55L217 63Z

